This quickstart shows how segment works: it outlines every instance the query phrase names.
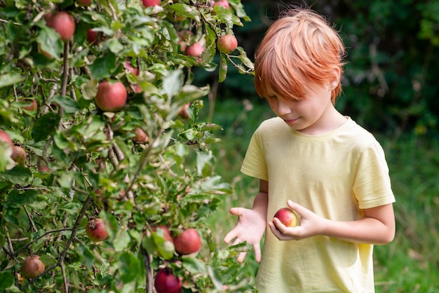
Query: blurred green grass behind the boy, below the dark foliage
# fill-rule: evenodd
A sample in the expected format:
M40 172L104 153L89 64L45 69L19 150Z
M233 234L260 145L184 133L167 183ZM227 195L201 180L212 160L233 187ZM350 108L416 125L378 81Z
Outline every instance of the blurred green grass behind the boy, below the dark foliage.
M264 101L248 100L217 101L214 113L212 122L224 128L219 135L222 142L212 147L217 156L216 172L234 187L234 193L224 198L211 226L217 245L227 247L222 239L236 224L229 208L251 207L257 192L257 180L240 172L248 142L259 123L273 114ZM389 245L374 248L376 291L438 292L438 142L411 134L398 139L374 135L386 151L397 200L396 238ZM245 266L249 275L257 271L253 256L250 252Z

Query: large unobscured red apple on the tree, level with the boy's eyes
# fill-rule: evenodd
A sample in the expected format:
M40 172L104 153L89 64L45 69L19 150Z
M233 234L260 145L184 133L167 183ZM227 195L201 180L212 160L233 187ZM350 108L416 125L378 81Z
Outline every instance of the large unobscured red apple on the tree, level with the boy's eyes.
M126 88L121 81L115 83L104 81L97 87L95 103L102 111L114 112L125 106L127 95Z

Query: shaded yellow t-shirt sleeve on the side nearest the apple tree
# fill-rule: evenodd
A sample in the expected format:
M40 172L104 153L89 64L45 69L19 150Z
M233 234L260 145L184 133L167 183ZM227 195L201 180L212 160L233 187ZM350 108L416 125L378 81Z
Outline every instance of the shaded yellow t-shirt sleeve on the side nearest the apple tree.
M243 165L241 166L241 172L245 175L262 180L268 180L269 178L264 156L264 147L262 145L262 137L258 130L255 131L252 135L252 139L250 139L250 144L245 153Z

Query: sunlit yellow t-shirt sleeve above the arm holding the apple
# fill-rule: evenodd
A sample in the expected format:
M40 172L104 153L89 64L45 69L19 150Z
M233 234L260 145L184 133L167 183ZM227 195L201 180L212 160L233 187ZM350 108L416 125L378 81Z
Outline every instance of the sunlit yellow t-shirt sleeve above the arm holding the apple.
M353 193L360 209L395 202L391 189L389 167L379 143L370 144L358 158Z

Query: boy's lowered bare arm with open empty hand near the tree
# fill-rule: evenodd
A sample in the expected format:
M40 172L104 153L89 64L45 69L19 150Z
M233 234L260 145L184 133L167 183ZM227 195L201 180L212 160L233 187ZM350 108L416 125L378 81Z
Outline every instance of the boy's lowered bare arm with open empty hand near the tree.
M268 207L268 182L259 181L259 193L253 201L252 209L245 207L232 207L230 213L238 216L238 224L224 237L224 242L229 243L234 240L233 245L247 241L255 249L255 260L261 260L261 239L266 229L266 210ZM246 252L241 252L238 262L242 262Z

